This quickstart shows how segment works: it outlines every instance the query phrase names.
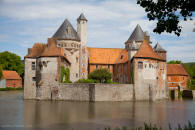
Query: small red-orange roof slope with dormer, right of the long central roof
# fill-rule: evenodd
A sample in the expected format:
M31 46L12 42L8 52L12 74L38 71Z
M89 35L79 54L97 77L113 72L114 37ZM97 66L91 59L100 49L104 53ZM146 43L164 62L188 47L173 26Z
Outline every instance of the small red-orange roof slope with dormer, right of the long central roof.
M128 61L128 51L126 49L123 49L118 58L116 59L115 61L115 64L118 64L118 63L125 63Z

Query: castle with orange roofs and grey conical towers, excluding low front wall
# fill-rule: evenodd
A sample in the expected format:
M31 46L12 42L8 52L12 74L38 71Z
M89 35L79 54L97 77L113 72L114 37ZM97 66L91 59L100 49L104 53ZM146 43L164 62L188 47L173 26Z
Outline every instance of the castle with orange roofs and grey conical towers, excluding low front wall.
M76 31L66 19L47 44L35 43L28 49L24 99L59 97L60 79L64 78L61 66L69 68L72 82L86 79L97 68L107 68L113 81L133 86L135 100L167 98L166 50L160 44L152 48L147 31L137 25L124 49L91 48L87 47L87 21L82 13Z

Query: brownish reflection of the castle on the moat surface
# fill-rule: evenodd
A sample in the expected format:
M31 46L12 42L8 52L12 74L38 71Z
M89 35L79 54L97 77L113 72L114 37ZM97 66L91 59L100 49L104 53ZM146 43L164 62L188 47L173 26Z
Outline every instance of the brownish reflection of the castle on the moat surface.
M174 107L185 109L180 103L173 103ZM24 101L24 124L44 128L88 129L105 126L131 128L142 126L144 122L168 126L168 123L175 123L173 122L175 117L183 121L186 113L169 109L169 102L166 101L96 103Z

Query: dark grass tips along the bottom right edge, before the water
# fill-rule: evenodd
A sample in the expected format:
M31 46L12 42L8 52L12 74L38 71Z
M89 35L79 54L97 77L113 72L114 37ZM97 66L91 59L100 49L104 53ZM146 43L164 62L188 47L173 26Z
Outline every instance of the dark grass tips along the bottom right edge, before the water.
M169 130L195 130L195 124L192 124L190 121L188 121L187 125L184 125L184 127L181 127L180 124L178 124L177 128L172 128L171 125L169 124ZM105 130L111 130L110 127L105 128ZM114 130L130 130L127 127L122 127L120 128L115 128ZM131 130L163 130L162 127L158 127L156 125L151 125L151 124L146 124L144 123L143 127L137 127L137 128L133 128Z

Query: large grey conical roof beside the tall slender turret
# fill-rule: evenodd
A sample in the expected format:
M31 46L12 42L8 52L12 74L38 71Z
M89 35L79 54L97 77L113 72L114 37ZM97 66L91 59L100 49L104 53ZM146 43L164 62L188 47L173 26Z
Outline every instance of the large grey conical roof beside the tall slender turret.
M69 39L69 40L80 40L77 32L71 25L71 23L68 21L68 19L65 19L65 21L62 23L62 25L58 28L56 33L53 35L53 38L56 39Z

